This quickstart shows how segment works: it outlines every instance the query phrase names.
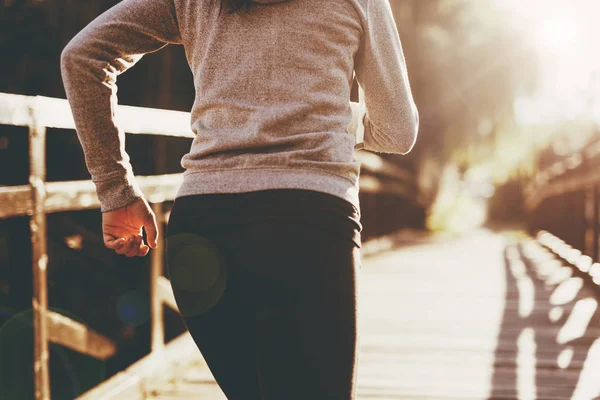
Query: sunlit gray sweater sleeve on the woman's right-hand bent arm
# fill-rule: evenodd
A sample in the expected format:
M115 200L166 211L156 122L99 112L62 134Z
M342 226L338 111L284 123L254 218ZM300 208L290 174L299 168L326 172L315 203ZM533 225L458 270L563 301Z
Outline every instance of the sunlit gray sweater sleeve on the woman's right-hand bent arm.
M364 106L353 107L353 119L364 125L364 149L410 152L417 139L419 113L389 0L367 0L366 26L354 69L364 91Z

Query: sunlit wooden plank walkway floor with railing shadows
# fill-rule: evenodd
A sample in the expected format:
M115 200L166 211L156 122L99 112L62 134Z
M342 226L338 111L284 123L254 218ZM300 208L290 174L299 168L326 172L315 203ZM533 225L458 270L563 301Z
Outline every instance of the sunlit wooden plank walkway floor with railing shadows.
M421 239L361 278L359 400L600 399L597 289L535 241ZM225 399L189 336L169 347L136 398Z

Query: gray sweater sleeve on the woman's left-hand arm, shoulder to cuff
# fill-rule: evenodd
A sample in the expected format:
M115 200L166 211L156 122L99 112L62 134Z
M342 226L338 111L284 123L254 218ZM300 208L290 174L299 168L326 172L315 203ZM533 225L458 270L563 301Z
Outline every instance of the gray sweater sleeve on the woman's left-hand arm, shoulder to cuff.
M143 196L125 151L125 133L115 119L117 76L169 43L181 43L173 0L123 0L61 53L65 92L102 212Z

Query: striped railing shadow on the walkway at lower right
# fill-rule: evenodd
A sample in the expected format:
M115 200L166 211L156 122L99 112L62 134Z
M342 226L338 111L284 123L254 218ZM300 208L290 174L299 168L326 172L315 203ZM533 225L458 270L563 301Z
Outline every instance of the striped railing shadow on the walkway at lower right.
M507 245L504 267L488 400L600 399L598 293L533 240Z

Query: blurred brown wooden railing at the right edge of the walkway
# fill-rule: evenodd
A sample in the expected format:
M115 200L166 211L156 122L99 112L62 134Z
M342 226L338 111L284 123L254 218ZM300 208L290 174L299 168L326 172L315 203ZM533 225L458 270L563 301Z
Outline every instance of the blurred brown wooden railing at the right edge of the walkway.
M600 138L538 171L524 195L538 241L600 286Z

